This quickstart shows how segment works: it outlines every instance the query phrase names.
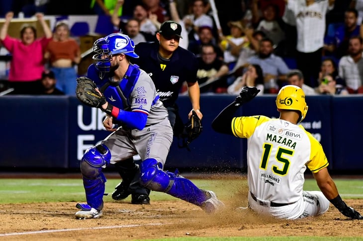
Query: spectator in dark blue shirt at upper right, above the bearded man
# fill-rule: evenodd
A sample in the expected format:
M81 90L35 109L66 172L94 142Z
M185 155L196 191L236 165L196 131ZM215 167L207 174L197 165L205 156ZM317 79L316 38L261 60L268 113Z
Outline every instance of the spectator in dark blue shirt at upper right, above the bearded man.
M352 36L360 35L360 24L357 23L358 12L350 8L344 13L344 25L337 28L333 38L326 37L325 55L333 55L338 60L348 54L348 43ZM357 25L358 24L358 25Z

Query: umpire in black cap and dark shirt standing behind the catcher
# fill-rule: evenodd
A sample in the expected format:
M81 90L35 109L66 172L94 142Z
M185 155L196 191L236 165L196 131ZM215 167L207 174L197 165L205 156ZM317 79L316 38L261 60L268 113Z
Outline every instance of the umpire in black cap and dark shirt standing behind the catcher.
M168 109L174 135L178 136L182 132L183 123L178 114L176 101L184 81L188 87L192 106L188 118L190 119L192 111L195 111L199 119L203 117L200 112L200 91L196 79L198 62L193 53L179 47L179 41L182 38L179 23L174 21L162 23L160 31L156 33L156 38L158 42L136 45L135 53L140 58L133 61L152 78L157 94ZM118 162L116 169L122 182L115 187L112 198L122 200L131 194L131 203L150 204L150 190L139 183L140 170L133 159Z

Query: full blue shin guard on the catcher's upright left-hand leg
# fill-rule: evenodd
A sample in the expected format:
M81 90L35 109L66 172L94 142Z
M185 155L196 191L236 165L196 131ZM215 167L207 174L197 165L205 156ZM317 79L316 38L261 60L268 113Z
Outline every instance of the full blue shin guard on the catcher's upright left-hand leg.
M103 207L104 182L102 167L109 163L111 154L105 145L97 145L86 150L81 160L81 173L88 205L101 210Z

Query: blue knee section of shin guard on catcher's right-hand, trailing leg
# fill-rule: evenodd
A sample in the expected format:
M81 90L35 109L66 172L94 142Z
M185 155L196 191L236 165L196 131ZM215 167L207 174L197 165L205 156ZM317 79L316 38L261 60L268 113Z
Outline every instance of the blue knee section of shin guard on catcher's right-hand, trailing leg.
M175 174L163 171L163 164L153 158L141 163L140 172L141 184L153 191L168 192L173 186Z

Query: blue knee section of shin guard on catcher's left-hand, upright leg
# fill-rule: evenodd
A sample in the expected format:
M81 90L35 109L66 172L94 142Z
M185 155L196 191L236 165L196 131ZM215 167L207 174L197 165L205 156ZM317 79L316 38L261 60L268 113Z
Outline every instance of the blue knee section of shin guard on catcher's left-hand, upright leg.
M111 153L109 149L99 144L88 148L81 160L81 173L86 178L96 178L101 168L110 163Z

